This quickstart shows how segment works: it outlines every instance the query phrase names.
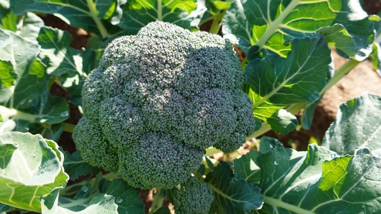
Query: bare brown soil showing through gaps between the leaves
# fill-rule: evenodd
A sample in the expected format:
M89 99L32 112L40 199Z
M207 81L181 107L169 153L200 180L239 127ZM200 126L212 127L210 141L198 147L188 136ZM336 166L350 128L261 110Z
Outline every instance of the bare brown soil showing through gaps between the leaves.
M380 11L381 0L364 0L364 8L369 14L376 14ZM81 49L86 47L87 41L91 37L91 35L87 34L83 29L73 28L55 16L47 15L42 17L42 19L47 26L68 31L73 36L73 41L70 44L73 48ZM237 51L239 50L237 49ZM346 61L346 59L339 57L335 52L334 60L337 68ZM54 85L51 88L51 92L56 96L63 96L68 99L67 93L65 93L60 86ZM381 77L373 70L372 64L369 61L360 63L347 76L341 79L337 85L333 86L325 93L316 108L310 130L300 129L298 131L293 131L288 135L269 131L265 135L276 137L286 147L294 147L297 150L306 150L311 137L318 141L321 141L324 137L325 131L335 120L339 104L349 99L353 99L364 92L381 95ZM72 104L70 104L70 115L71 117L65 122L77 124L81 114L78 111L78 108ZM71 133L69 132L63 132L58 143L64 150L69 152L75 151L75 145L72 141ZM250 142L247 142L247 144L250 145ZM152 201L152 191L140 191L140 193L143 202L146 204L147 213ZM165 203L168 204L168 202Z

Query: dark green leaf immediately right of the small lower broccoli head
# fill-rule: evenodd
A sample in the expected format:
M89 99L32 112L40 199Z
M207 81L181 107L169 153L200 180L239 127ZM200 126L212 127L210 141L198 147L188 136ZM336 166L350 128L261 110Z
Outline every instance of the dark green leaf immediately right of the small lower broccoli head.
M214 200L209 213L241 214L262 207L260 189L242 178L233 176L229 164L218 164L207 174L205 183L213 190Z

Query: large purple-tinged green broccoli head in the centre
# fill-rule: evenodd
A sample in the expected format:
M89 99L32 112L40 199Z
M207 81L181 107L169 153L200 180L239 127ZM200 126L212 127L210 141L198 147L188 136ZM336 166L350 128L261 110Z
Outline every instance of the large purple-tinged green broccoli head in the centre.
M205 149L238 149L254 129L233 46L155 21L115 39L85 81L74 141L91 165L141 189L173 188Z

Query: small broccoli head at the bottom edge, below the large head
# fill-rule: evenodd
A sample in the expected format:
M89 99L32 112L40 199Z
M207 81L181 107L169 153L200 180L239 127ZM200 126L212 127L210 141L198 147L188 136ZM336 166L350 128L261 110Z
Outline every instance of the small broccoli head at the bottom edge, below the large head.
M213 199L212 189L196 177L191 177L180 189L175 187L168 191L175 214L207 214Z

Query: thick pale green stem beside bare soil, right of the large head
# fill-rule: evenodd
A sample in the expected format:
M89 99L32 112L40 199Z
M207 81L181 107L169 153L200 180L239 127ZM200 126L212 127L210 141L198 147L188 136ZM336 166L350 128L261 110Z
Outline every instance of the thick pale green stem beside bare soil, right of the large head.
M359 61L355 61L355 60L349 60L348 62L346 62L345 64L343 64L334 74L334 76L332 77L332 79L328 82L328 84L320 91L319 95L320 97L323 96L323 94L328 90L330 89L332 86L334 86L335 84L337 84L339 82L339 80L341 80L341 78L343 78L345 75L347 75L353 68L356 67L356 65L360 64ZM297 104L293 104L289 107L287 107L286 109L292 113L292 114L296 114L297 112L299 112L301 109L303 109L304 107L306 107L308 105L308 103L297 103ZM254 137L259 137L260 135L270 131L271 128L269 127L269 125L267 125L266 123L262 123L262 127L259 128L258 130L254 131L253 134L251 134L249 137L246 137L246 140L251 140L253 139Z

